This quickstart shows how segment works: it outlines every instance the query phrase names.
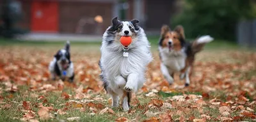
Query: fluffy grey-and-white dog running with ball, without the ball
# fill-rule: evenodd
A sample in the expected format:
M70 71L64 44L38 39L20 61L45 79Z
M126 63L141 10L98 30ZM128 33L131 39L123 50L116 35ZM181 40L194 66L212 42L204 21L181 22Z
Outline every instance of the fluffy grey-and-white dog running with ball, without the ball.
M121 22L117 17L113 18L100 47L100 78L112 98L112 106L118 107L122 97L124 111L129 110L132 92L143 86L147 65L152 61L150 43L138 22L136 19ZM131 36L129 46L120 43L122 36Z

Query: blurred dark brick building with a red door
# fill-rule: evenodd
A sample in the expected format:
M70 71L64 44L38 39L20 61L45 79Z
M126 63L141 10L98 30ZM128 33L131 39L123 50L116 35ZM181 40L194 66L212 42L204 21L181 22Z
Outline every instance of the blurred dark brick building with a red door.
M158 32L170 24L176 0L16 0L22 6L19 27L31 32L102 34L111 18L137 18L145 30ZM0 4L3 0L0 0ZM95 22L100 15L103 22Z

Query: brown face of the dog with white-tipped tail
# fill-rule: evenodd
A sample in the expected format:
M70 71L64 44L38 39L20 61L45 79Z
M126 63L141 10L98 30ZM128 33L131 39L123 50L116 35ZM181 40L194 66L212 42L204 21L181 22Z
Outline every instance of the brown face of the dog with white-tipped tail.
M168 25L163 25L161 28L161 41L159 45L162 48L168 48L169 51L180 51L185 43L184 29L182 26L177 26L171 30Z

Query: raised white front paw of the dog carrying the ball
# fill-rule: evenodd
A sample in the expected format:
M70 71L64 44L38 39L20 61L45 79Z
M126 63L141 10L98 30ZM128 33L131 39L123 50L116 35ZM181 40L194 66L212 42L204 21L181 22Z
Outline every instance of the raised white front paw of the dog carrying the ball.
M138 90L138 81L139 81L139 74L131 73L127 77L127 83L124 86L124 89L127 92L136 92Z

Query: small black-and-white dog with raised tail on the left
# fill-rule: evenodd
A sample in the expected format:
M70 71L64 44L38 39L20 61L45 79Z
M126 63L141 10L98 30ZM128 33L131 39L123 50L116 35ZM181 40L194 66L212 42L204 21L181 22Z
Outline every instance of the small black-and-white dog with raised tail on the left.
M74 65L70 60L70 43L67 41L65 48L58 50L53 60L49 64L49 71L53 80L60 77L62 81L68 78L68 81L74 81Z

